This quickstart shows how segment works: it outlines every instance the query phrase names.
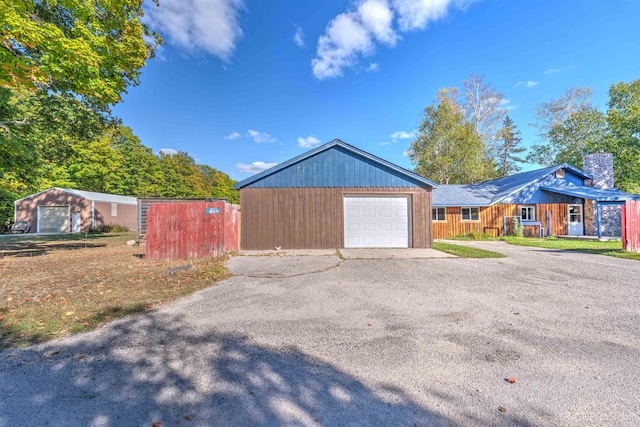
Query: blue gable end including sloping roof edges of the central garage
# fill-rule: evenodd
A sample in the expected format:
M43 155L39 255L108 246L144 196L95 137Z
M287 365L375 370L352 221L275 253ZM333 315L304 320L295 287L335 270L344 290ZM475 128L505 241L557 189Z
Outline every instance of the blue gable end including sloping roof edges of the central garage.
M235 189L319 187L420 187L437 185L339 139L234 185Z

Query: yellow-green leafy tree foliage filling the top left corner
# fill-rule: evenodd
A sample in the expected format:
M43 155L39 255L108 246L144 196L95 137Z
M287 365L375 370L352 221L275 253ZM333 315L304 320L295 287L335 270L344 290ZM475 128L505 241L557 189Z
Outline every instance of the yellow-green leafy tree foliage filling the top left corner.
M117 103L161 42L142 0L0 0L0 86Z

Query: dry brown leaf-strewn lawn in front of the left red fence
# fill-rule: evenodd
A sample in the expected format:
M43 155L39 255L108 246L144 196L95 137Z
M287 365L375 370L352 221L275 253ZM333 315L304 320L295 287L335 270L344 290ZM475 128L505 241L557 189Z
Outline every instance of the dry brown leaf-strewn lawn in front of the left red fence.
M222 258L146 261L131 239L0 236L0 350L93 329L228 276Z

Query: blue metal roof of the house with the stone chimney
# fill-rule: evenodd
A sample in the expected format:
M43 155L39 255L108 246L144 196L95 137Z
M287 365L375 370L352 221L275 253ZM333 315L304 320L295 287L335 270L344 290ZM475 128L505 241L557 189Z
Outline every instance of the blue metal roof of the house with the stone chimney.
M580 169L564 163L478 184L441 185L433 190L433 205L491 206L507 199L509 196L516 196L518 193L522 193L524 189L535 186L540 181L549 179L559 169L565 169L582 179L591 178L590 175Z

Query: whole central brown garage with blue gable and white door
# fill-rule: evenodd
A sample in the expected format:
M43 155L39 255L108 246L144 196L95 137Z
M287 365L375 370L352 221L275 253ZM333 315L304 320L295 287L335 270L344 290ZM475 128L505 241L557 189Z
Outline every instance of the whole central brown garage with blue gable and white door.
M340 140L235 187L242 249L432 245L435 184Z

